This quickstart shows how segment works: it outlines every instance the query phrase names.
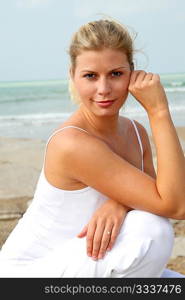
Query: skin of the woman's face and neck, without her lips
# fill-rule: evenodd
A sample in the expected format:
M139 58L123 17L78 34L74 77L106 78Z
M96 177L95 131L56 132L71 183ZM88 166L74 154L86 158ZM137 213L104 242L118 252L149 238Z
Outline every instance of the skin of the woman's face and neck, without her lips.
M119 110L128 96L130 75L123 52L111 49L83 51L77 57L71 76L81 99L79 113L96 134L109 137L117 134ZM110 109L100 109L96 102L104 100L115 102Z

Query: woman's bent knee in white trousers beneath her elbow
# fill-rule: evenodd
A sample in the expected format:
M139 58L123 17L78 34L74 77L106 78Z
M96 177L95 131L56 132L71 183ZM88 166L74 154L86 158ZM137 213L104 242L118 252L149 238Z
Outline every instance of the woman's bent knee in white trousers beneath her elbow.
M121 238L124 248L128 243L126 257L129 270L134 270L133 277L159 277L173 249L174 234L169 220L145 211L130 211Z

